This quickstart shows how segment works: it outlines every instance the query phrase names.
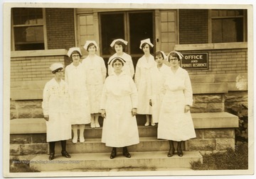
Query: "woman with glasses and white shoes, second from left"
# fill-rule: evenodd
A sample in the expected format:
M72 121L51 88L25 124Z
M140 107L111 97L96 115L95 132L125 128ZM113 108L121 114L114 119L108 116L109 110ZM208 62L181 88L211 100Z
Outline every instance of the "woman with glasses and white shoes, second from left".
M86 88L85 67L80 63L82 53L79 47L72 47L68 50L68 57L73 62L65 68L65 81L68 83L71 103L71 125L73 130L72 142L85 142L85 124L90 123L90 102Z

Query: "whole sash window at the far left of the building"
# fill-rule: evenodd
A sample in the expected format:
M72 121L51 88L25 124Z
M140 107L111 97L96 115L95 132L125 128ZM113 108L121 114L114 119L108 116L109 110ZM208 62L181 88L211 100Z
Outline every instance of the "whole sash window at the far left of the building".
M44 50L43 8L12 8L13 50Z

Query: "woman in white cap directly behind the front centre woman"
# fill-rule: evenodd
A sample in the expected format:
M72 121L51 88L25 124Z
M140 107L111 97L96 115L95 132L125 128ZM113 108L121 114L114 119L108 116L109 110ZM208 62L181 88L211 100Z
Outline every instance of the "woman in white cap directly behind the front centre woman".
M133 78L134 76L134 65L132 62L131 55L124 52L125 47L127 47L128 42L123 39L116 39L113 40L113 42L110 44L110 47L116 52L113 54L110 59L108 60L107 64L107 74L110 76L114 72L114 68L110 65L111 59L114 57L121 57L124 59L125 64L124 67L122 67L122 71L125 72L127 75L131 76Z

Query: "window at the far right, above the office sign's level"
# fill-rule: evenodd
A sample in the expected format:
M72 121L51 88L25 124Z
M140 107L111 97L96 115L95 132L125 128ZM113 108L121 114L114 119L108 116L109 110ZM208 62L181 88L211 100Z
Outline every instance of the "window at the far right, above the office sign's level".
M244 42L245 11L242 9L211 10L212 42Z

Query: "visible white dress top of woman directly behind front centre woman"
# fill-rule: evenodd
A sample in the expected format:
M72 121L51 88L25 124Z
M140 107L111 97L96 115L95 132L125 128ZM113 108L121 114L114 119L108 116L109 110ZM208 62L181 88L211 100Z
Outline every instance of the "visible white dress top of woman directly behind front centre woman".
M117 56L117 53L113 54L110 59L108 60L107 64L107 74L110 76L114 73L114 69L113 67L109 64L110 60L113 59L114 57L121 57L122 59L124 59L125 63L124 63L124 67L122 67L122 71L125 72L125 74L131 76L133 78L134 76L134 65L132 62L132 57L131 55L123 52L123 54L121 56Z

